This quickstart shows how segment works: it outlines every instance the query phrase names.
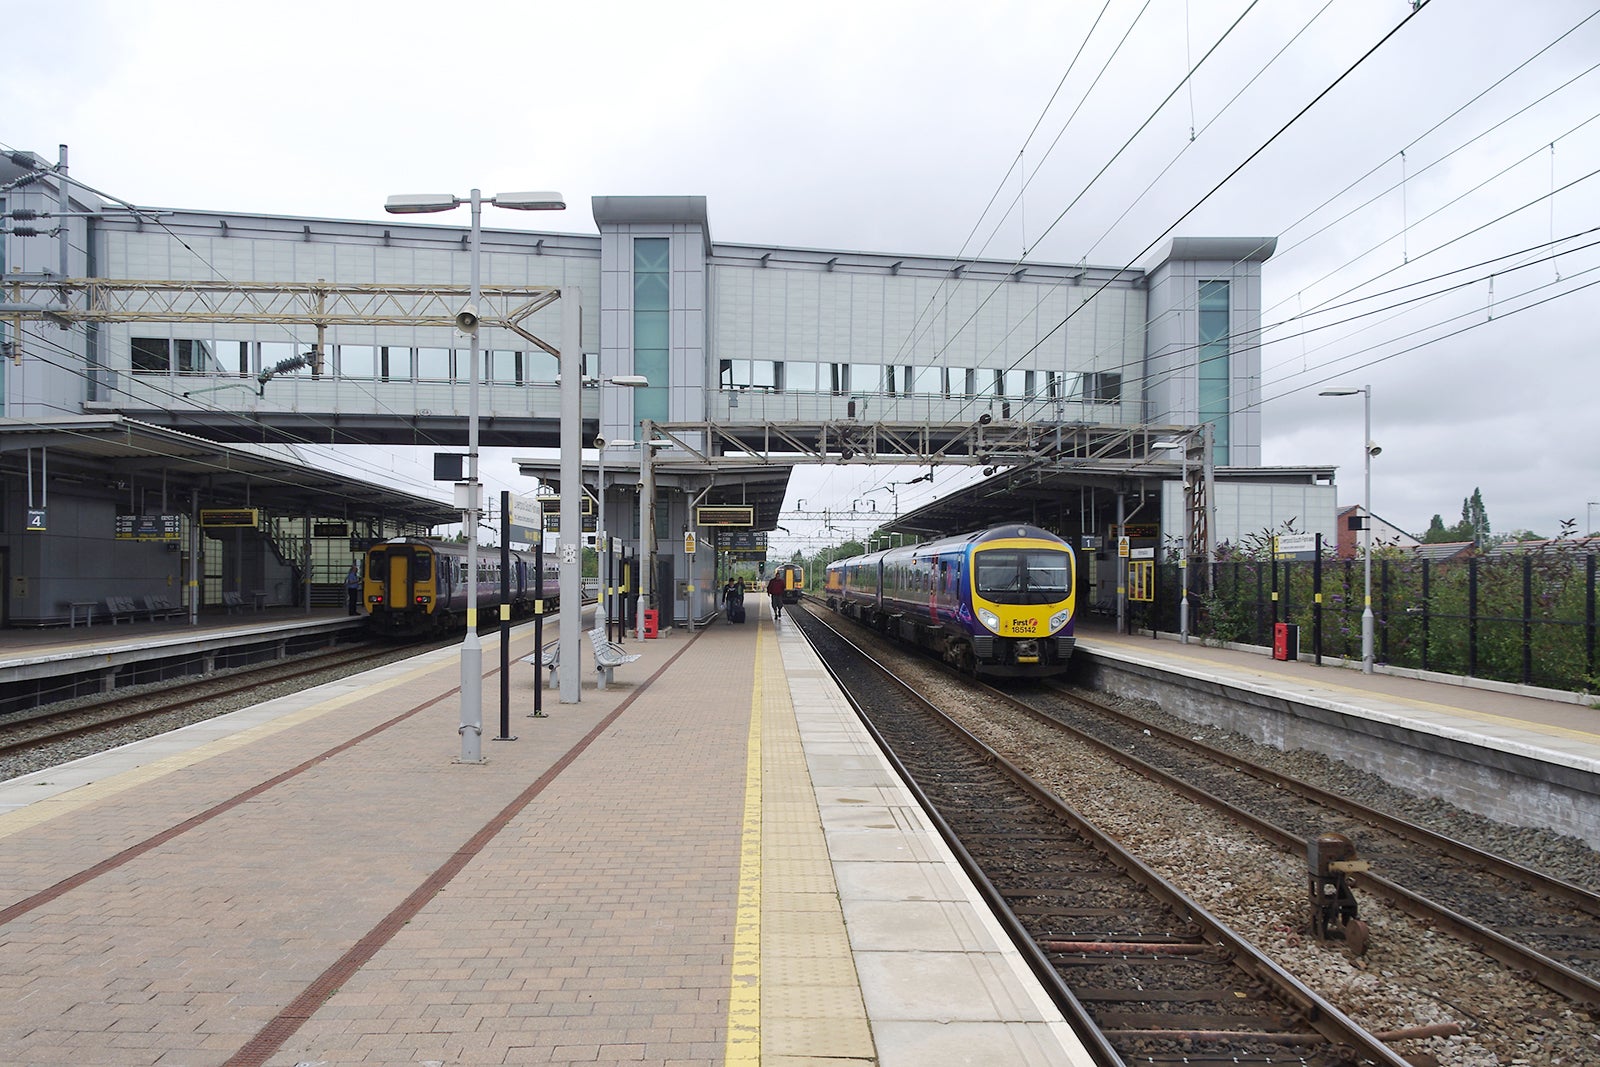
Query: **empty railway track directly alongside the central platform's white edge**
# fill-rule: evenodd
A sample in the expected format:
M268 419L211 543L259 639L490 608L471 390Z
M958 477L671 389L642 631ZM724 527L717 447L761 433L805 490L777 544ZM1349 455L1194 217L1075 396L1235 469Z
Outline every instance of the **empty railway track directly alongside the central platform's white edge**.
M890 669L792 617L1098 1062L1406 1064Z

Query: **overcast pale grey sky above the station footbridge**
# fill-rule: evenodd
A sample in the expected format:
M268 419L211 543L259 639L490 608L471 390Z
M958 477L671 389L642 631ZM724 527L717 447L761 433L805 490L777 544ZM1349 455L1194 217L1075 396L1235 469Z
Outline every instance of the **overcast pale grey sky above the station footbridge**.
M557 189L485 224L594 234L594 195L701 194L720 242L1112 267L1277 237L1264 462L1360 502L1362 398L1318 390L1370 384L1378 515L1482 488L1496 533L1550 536L1600 525L1594 6L61 0L5 14L0 144L147 206ZM491 491L526 488L507 459ZM789 507L914 474L798 470Z

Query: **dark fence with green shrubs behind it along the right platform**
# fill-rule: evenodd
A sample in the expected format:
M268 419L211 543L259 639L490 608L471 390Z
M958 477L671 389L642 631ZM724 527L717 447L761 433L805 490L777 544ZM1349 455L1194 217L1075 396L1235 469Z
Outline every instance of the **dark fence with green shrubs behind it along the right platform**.
M1394 667L1600 693L1594 552L1541 550L1418 560L1373 557L1373 659ZM1362 560L1235 558L1211 565L1211 592L1190 574L1189 632L1272 645L1274 622L1299 629L1299 657L1362 659ZM1130 605L1131 629L1176 633L1176 560L1157 568L1152 603ZM1318 606L1318 597L1320 606Z

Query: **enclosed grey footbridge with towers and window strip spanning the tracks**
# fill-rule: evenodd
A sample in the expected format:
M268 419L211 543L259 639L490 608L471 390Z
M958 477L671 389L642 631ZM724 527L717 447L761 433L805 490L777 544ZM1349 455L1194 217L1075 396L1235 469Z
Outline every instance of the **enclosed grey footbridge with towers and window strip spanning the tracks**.
M645 419L987 416L1205 422L1218 466L1261 464L1261 270L1274 238L1176 238L1147 267L1115 269L715 242L704 197L589 206L594 235L498 229L485 210L483 446L555 446L574 416L586 442L592 427L635 443ZM27 213L38 221L22 226ZM450 224L136 211L14 154L0 160L0 214L5 419L115 413L242 443L464 442L470 360L450 314L474 266L466 210L442 216ZM586 378L648 384L587 389L581 411L563 411L554 342L568 315L581 317ZM614 470L630 462L637 451L606 456ZM14 466L6 539L24 536ZM662 498L659 552L678 552L694 498ZM637 502L614 501L608 526L638 537ZM1331 488L1323 510L1331 534ZM678 561L706 597L678 609L699 614L709 558Z

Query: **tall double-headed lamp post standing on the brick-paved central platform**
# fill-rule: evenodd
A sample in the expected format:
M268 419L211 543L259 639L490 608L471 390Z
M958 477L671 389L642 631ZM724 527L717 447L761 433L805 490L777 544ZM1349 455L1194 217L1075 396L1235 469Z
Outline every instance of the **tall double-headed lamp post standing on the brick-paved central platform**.
M558 192L501 192L486 198L488 203L512 211L560 211L566 206ZM467 499L462 523L467 528L467 635L461 641L461 761L483 761L483 645L478 641L478 515L483 501L478 485L478 234L485 197L477 189L464 202L453 194L402 194L389 197L384 210L392 214L419 214L453 211L462 203L472 205L472 290L467 306L456 314L456 328L470 339L467 376Z

